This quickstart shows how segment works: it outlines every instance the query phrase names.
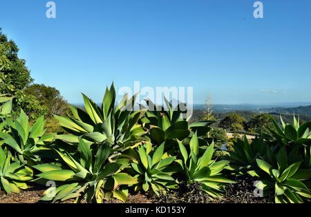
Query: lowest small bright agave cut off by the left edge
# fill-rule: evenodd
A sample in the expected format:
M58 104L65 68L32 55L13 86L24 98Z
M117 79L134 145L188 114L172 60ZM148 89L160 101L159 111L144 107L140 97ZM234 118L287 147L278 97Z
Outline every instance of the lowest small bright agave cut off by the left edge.
M19 161L12 161L8 149L0 146L0 189L7 194L19 193L19 189L27 189L26 181L32 179L32 169Z

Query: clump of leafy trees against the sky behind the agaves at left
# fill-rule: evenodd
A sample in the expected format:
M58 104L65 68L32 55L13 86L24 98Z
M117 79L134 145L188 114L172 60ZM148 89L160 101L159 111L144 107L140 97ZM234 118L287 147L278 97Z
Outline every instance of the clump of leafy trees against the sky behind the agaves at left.
M19 48L14 41L2 34L0 28L0 94L11 94L13 100L13 115L23 110L30 119L42 115L64 115L68 109L55 87L31 85L33 79L26 67L26 61L19 59Z

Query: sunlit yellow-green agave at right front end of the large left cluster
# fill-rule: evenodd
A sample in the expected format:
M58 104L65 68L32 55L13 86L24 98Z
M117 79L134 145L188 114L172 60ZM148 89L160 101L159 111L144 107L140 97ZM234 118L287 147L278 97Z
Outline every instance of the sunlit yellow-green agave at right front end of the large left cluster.
M214 154L214 142L209 145L200 158L198 158L199 142L196 134L191 138L189 152L182 142L178 141L178 145L182 158L177 162L182 167L182 178L187 180L187 183L200 183L204 192L211 198L220 198L221 187L224 183L235 183L220 173L229 161L211 159Z

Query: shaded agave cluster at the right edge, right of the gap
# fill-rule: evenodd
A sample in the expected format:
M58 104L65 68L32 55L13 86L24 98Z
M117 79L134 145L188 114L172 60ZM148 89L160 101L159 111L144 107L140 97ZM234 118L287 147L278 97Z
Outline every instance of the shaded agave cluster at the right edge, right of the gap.
M234 143L229 152L233 171L258 178L256 187L263 196L273 195L276 203L304 203L311 200L311 122L299 125L282 121L280 126L272 116L276 130L261 134L251 144Z

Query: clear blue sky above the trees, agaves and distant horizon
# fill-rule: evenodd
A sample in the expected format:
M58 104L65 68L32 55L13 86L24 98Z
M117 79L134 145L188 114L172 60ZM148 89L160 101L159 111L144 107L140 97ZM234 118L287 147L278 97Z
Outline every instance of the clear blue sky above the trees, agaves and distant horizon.
M35 83L70 103L106 85L194 87L194 103L311 102L310 0L2 0Z

